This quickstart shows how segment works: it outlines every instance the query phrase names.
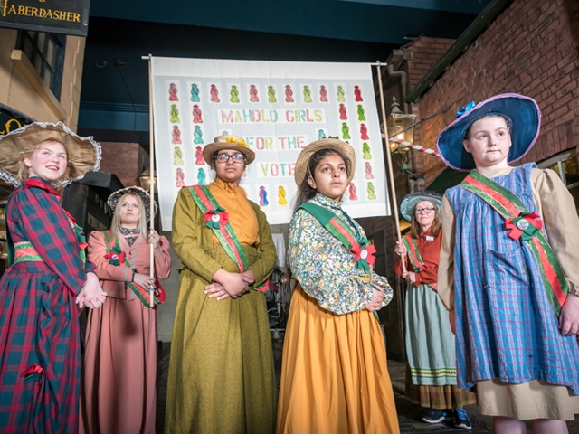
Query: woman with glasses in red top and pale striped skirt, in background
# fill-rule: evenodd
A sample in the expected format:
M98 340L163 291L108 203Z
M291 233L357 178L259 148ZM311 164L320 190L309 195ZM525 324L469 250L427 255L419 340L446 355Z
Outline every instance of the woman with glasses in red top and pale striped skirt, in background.
M411 222L410 233L396 243L394 250L398 255L395 272L406 280L406 396L430 409L423 421L451 420L457 428L470 429L464 406L476 399L456 385L454 335L437 293L441 200L438 193L418 192L406 195L400 205L403 218Z

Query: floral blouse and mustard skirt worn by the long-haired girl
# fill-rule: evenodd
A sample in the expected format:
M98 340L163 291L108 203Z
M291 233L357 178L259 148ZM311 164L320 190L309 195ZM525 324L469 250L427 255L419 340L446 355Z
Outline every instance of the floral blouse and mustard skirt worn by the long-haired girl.
M353 231L362 228L341 203L318 194ZM398 434L394 392L380 324L365 309L373 289L354 255L311 214L298 210L289 226L288 259L299 285L283 344L278 434ZM392 298L385 278L384 304Z

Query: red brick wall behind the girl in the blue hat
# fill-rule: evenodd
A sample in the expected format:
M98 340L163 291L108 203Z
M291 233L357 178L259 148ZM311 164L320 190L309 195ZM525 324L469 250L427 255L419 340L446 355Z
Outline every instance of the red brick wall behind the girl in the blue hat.
M409 61L410 63L410 61ZM421 64L416 62L416 70ZM536 99L541 135L520 163L541 161L579 146L579 2L515 0L419 100L422 145L434 148L441 130L470 100L515 92ZM425 157L426 184L444 166Z

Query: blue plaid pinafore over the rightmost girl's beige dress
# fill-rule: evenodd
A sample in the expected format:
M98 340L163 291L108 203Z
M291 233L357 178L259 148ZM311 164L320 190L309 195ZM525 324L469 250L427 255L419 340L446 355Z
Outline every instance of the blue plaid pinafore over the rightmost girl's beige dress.
M493 178L536 212L534 164ZM458 384L542 380L579 394L576 336L562 336L536 259L508 238L504 219L460 185L446 193L456 216L454 285ZM556 252L555 252L556 254Z

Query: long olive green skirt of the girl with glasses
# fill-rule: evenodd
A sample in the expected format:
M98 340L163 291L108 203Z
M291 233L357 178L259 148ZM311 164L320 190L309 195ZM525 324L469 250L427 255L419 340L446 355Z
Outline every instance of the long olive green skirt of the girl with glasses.
M257 250L243 247L252 263ZM239 272L221 246L206 253ZM181 272L165 432L270 434L277 387L265 297L251 291L217 301L204 294L209 283L190 269Z

